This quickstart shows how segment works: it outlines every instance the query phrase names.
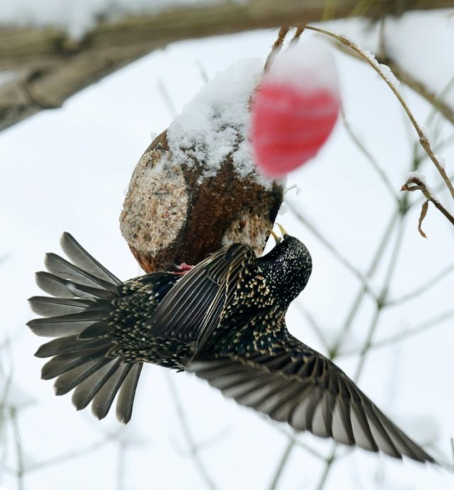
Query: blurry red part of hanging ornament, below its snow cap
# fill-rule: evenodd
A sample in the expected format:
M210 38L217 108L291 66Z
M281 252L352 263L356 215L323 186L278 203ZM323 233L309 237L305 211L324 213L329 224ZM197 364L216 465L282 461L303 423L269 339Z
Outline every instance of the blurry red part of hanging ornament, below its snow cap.
M253 99L255 161L269 177L283 177L314 157L338 118L337 93L265 80Z

